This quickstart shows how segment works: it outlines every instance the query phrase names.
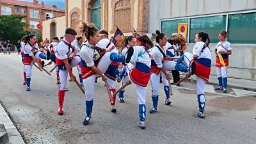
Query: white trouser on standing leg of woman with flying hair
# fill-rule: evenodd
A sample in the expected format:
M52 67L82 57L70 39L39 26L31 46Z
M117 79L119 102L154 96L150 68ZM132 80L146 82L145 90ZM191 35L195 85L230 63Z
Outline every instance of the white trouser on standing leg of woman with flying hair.
M83 85L85 90L85 100L86 101L92 101L94 99L95 94L95 78L96 75L87 77L86 79L83 79Z

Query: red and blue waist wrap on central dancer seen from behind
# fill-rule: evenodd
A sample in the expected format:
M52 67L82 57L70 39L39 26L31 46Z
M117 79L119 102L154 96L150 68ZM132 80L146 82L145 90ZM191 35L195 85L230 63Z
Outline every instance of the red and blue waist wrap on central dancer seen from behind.
M130 71L130 77L133 83L147 87L150 79L150 67L144 63L136 63L136 67Z

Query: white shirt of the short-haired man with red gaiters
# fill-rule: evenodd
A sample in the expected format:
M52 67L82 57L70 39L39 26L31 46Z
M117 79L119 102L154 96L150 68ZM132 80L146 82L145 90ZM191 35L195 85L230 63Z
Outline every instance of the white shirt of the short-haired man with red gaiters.
M65 38L63 40L65 40ZM68 50L68 45L67 45L67 44L70 44L70 42L67 42L67 40L65 40L65 42L67 42L67 44L65 44L63 40L56 46L55 56L59 60L67 59L69 54L72 53L72 47L69 47L69 50Z

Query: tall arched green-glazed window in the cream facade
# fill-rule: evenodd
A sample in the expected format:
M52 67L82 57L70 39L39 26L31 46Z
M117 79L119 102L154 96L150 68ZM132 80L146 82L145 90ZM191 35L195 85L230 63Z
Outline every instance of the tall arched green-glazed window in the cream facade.
M97 29L101 29L101 8L100 8L100 0L96 0L92 3L92 23L95 24Z

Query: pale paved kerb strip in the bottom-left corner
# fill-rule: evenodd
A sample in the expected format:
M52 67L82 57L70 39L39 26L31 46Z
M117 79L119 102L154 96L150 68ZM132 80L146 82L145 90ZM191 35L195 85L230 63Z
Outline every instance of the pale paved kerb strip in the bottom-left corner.
M17 130L15 125L13 125L12 120L10 120L8 114L4 110L2 104L0 104L0 124L3 124L9 138L9 144L25 144L20 132Z

